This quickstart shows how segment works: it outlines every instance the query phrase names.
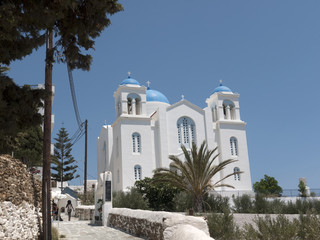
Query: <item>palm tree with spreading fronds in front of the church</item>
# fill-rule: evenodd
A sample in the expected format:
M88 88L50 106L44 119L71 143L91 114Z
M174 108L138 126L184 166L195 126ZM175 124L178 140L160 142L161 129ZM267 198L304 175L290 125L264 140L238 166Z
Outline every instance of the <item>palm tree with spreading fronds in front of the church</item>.
M229 184L224 184L223 181L235 174L241 172L233 172L219 181L213 183L212 178L225 168L230 163L237 160L228 159L217 165L214 165L214 160L217 159L217 147L213 150L207 149L205 141L201 144L199 150L195 143L192 143L191 150L188 150L184 145L181 146L184 153L185 161L181 161L177 156L170 155L172 160L169 168L158 168L154 170L154 178L156 182L166 182L187 191L193 197L193 205L196 212L202 211L203 197L209 191L217 187L231 187Z

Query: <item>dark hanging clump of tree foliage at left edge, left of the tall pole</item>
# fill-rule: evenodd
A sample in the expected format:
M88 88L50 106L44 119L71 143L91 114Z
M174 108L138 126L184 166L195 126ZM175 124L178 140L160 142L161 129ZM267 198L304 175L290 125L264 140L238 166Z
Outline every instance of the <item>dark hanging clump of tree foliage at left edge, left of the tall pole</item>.
M43 90L19 87L0 74L0 153L11 154L18 148L18 133L40 126L42 116L38 109L43 106L43 97Z

